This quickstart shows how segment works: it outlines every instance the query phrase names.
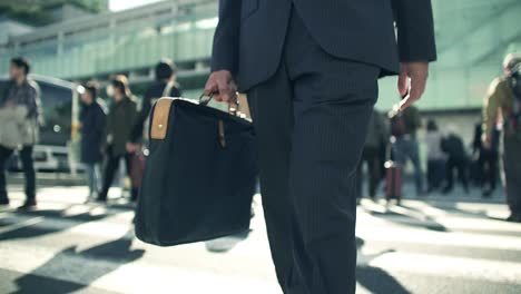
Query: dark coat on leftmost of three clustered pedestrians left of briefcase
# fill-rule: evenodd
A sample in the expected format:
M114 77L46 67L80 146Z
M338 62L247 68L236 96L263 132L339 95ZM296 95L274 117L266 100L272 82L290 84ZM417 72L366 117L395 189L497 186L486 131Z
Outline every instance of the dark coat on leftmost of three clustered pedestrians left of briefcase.
M81 111L81 161L96 164L102 160L107 115L104 107L95 101L85 105Z

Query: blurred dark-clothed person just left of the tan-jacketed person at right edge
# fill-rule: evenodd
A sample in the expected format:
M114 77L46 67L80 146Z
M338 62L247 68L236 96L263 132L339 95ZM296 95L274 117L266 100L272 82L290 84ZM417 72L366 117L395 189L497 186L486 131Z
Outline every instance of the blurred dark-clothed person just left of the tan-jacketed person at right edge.
M498 160L500 130L494 126L490 148L483 146L483 122L475 125L474 141L472 144L473 157L478 157L475 163L479 186L482 188L482 196L490 197L495 190L498 182Z

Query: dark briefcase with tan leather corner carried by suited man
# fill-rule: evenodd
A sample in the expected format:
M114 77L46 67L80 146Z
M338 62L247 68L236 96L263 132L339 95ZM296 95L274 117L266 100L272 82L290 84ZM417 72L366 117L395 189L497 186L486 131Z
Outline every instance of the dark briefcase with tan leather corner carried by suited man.
M200 100L200 99L199 99ZM173 246L249 228L257 165L252 122L204 102L159 99L136 214L139 239Z

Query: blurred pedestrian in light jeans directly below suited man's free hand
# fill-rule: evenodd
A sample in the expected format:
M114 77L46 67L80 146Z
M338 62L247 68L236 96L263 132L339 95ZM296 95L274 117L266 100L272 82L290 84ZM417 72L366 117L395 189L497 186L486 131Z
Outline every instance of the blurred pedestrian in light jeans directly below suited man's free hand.
M394 120L394 121L393 121ZM414 168L414 185L416 196L425 194L423 188L423 171L420 161L420 144L416 133L422 127L420 110L412 106L395 116L392 120L391 135L395 137L393 144L393 158L400 166L411 160Z

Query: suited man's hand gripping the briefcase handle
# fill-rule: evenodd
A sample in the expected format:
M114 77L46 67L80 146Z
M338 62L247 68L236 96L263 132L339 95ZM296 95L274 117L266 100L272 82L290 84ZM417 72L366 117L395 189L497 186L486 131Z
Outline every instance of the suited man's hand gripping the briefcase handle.
M237 85L232 72L228 70L212 72L205 86L205 95L214 95L216 101L235 104L237 101Z

